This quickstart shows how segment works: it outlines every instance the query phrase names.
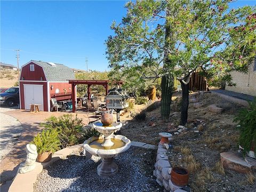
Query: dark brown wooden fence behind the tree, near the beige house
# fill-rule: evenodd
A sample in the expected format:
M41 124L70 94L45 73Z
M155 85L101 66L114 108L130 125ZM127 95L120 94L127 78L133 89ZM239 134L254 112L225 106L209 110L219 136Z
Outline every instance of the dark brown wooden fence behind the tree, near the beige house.
M199 70L194 71L190 76L189 90L191 91L206 91L207 79L206 77L199 75Z

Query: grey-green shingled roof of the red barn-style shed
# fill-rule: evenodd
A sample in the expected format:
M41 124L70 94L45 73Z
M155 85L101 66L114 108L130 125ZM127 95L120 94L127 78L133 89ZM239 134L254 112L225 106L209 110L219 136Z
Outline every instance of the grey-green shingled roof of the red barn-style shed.
M54 63L56 66L51 66L48 62L31 60L36 65L44 69L44 74L47 81L50 82L63 82L67 79L75 79L73 69L59 63Z

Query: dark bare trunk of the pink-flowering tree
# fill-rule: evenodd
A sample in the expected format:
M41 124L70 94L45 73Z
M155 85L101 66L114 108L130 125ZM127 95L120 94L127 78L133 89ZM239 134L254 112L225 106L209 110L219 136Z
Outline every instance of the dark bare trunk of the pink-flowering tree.
M180 84L182 89L180 125L186 125L188 122L189 84L185 84L182 81L180 81Z

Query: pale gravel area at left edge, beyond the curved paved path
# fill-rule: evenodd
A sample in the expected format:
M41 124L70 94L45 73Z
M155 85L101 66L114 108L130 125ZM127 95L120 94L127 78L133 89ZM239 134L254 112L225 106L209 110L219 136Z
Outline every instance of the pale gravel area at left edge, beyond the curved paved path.
M8 110L15 109L0 108L0 162L8 153L10 153L12 146L22 132L21 123L16 118L2 113Z

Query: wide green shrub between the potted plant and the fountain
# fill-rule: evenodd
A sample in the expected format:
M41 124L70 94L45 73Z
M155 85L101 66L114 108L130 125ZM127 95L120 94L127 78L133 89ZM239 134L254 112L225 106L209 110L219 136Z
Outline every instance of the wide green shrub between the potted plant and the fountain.
M77 145L81 139L81 131L83 127L83 120L77 115L65 114L60 117L51 116L45 120L41 126L46 129L56 129L59 133L59 139L62 148L67 146Z

